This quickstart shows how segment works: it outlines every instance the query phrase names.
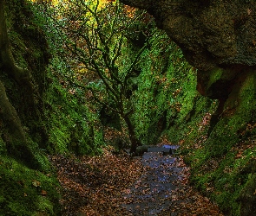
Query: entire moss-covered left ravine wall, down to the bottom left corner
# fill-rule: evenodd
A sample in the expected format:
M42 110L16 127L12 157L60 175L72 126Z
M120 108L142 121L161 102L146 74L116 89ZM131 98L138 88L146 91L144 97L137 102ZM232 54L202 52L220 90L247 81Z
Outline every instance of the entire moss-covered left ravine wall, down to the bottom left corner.
M10 75L2 54L1 215L59 215L60 186L48 154L95 155L104 144L97 113L64 79L67 71L49 46L51 35L37 7L30 1L4 2L5 43L16 66L28 72L29 82Z

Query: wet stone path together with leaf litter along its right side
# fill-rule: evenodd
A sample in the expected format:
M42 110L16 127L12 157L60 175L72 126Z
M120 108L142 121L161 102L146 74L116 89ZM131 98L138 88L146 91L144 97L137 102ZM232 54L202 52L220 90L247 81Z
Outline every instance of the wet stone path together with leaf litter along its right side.
M145 152L141 158L141 177L123 194L126 203L121 206L128 215L222 215L210 200L188 186L189 168L181 157L165 155L169 152L165 148L150 150L154 152Z

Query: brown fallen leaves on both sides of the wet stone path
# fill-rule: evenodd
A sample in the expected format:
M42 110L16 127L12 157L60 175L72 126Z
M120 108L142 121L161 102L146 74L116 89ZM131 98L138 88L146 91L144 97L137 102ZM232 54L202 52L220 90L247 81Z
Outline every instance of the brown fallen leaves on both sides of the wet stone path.
M58 155L49 156L49 159L56 166L62 185L60 201L63 216L134 215L121 207L129 201L136 204L136 200L127 197L129 194L135 197L131 188L141 187L142 194L148 193L147 185L143 178L140 178L147 171L147 167L142 167L140 157L115 155L113 149L106 148L102 156ZM171 206L158 213L158 216L223 215L218 206L188 186L190 172L182 157L177 157L171 166L182 168L182 171L179 172L178 180L173 182L176 189L171 192Z

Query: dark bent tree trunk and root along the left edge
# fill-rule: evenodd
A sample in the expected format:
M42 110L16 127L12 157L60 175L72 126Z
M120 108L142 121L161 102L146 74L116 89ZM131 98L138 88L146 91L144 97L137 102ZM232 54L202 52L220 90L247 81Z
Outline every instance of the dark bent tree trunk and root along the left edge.
M30 81L30 73L27 69L16 66L13 55L10 51L10 44L4 16L4 0L0 0L0 70L1 73L8 73L21 88L26 89L30 101L34 104L33 87ZM15 108L10 104L5 88L0 80L0 123L3 129L3 141L10 156L22 159L30 167L36 168L35 157L29 147Z

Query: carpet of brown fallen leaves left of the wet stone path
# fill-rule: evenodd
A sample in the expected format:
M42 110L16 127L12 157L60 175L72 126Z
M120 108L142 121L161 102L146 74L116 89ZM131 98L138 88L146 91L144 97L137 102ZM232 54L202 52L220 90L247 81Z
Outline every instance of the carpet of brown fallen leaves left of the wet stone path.
M62 215L128 215L121 208L122 192L141 175L140 159L114 155L77 158L50 156L62 185Z

